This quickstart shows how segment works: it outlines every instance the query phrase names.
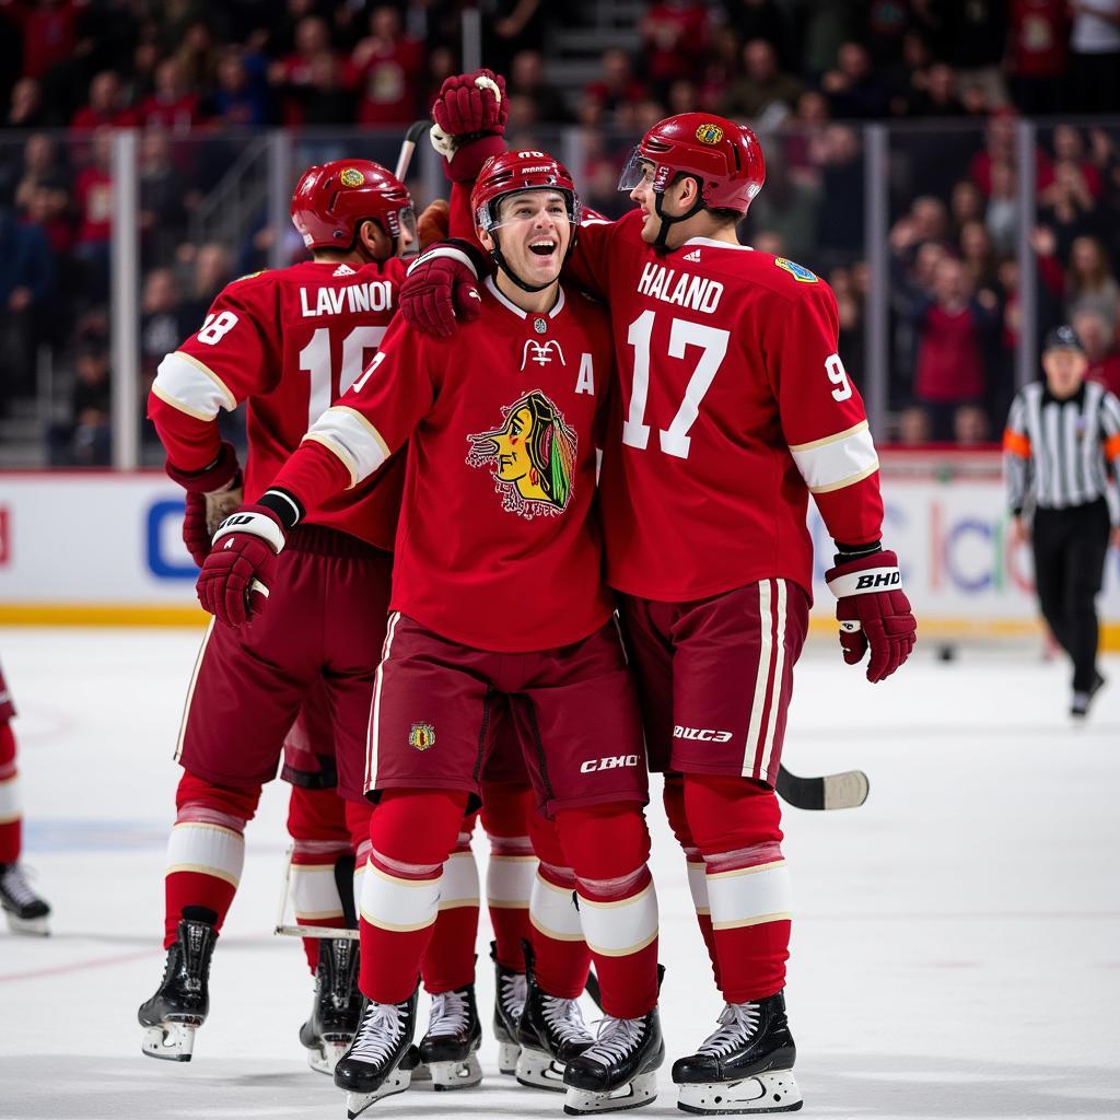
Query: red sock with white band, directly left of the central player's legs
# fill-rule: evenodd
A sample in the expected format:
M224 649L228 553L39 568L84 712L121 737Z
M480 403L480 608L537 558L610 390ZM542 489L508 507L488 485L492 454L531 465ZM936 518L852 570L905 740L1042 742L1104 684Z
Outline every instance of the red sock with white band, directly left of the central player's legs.
M293 785L288 834L292 839L289 881L296 924L344 928L345 908L335 867L351 855L345 802L334 790ZM346 889L351 888L347 884ZM319 964L319 939L304 937L304 952L314 976Z

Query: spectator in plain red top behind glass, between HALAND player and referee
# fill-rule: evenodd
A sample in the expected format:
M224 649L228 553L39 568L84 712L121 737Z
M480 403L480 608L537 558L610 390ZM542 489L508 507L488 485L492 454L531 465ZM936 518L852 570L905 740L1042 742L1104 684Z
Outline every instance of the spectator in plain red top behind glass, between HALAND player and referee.
M955 439L962 408L983 404L987 334L996 325L997 307L991 291L973 296L964 265L952 256L937 263L932 297L915 301L914 396L930 414L936 442Z

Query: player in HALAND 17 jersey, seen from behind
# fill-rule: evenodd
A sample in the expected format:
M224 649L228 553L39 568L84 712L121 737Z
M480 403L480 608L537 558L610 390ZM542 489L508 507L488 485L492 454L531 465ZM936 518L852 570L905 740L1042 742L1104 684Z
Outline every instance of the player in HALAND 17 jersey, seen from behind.
M445 101L433 116L452 138L455 231L463 180L500 129L478 138L475 99L455 94L441 119ZM457 134L470 139L456 150ZM897 560L879 540L878 459L837 352L832 292L736 237L764 177L749 129L709 113L669 118L619 183L637 208L587 223L570 262L610 309L620 392L600 479L607 580L622 594L651 767L666 774L665 809L726 1000L716 1032L673 1065L681 1108L704 1113L801 1104L774 781L808 628L810 493L837 542L827 580L844 661L870 650L867 676L881 681L915 641ZM456 310L475 314L472 269L456 246L421 258L402 299L410 317L454 333Z

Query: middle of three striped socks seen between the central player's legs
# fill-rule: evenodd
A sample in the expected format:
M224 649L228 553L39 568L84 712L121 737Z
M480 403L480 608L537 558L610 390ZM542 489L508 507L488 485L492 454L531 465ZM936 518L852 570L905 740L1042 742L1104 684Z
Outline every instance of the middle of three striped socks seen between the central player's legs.
M503 968L525 968L522 941L532 941L529 898L536 878L536 856L529 838L529 816L536 815L528 785L491 782L483 785L483 828L489 840L486 905L494 927L495 956Z

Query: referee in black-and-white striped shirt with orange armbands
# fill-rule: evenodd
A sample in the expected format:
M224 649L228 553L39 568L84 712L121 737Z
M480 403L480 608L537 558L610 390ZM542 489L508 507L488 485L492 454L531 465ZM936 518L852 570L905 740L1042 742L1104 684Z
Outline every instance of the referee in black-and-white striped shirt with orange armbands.
M1045 382L1020 390L1004 432L1011 541L1026 540L1025 506L1034 505L1032 545L1043 617L1073 661L1070 715L1084 719L1104 684L1096 670L1096 595L1110 535L1108 470L1120 479L1120 401L1085 381L1089 358L1072 327L1043 344Z

